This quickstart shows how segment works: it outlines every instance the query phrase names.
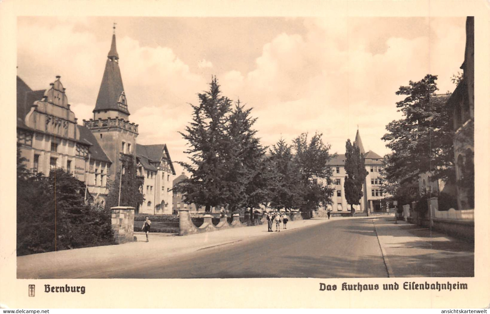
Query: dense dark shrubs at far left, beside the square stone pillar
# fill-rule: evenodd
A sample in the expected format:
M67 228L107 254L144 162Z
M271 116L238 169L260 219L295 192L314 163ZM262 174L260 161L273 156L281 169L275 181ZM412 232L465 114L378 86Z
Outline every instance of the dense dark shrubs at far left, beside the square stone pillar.
M110 212L85 203L84 192L61 169L18 176L17 255L112 244Z

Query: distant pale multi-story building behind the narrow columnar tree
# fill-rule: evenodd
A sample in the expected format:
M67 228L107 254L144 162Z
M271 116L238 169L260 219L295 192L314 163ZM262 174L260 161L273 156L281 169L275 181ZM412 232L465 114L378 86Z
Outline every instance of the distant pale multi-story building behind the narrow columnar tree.
M363 197L360 200L359 205L354 205L356 212L365 212L366 209L369 212L381 212L386 210L386 204L383 200L387 196L383 189L382 178L381 178L381 166L383 165L383 157L379 156L375 152L369 150L366 152L364 150L363 142L357 130L356 139L357 145L359 146L361 155L364 158L366 170L368 175L366 176L366 182L363 185ZM350 212L350 205L347 204L345 199L345 191L343 183L345 180L345 154L338 154L337 157L332 158L328 165L332 167L332 188L335 189L332 196L332 204L327 205L327 208L334 212L348 213Z

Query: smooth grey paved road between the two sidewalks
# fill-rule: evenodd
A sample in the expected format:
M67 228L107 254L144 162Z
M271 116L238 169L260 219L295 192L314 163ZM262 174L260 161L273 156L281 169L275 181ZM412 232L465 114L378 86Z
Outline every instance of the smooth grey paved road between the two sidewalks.
M112 278L388 277L372 220L329 221L142 265Z

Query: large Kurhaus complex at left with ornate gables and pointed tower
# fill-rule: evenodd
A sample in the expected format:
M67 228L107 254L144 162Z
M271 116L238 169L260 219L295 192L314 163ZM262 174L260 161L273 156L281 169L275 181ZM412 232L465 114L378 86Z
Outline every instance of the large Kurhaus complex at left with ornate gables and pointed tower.
M138 124L130 122L129 115L115 34L93 118L83 120L83 125L77 124L60 76L49 89L39 91L17 77L17 143L29 169L45 175L53 168L64 169L103 203L108 183L124 173L123 159L132 158L138 175L145 177L145 201L137 211L172 214L175 170L167 145L137 144Z

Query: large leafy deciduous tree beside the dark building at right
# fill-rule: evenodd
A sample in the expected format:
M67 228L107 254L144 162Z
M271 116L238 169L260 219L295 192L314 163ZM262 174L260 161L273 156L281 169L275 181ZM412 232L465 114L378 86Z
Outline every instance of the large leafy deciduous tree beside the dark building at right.
M427 74L395 93L406 97L396 103L403 119L390 122L382 137L392 150L385 156L390 182L413 182L427 171L434 179L454 182L452 120L445 106L447 96L435 94L436 80L436 75Z

